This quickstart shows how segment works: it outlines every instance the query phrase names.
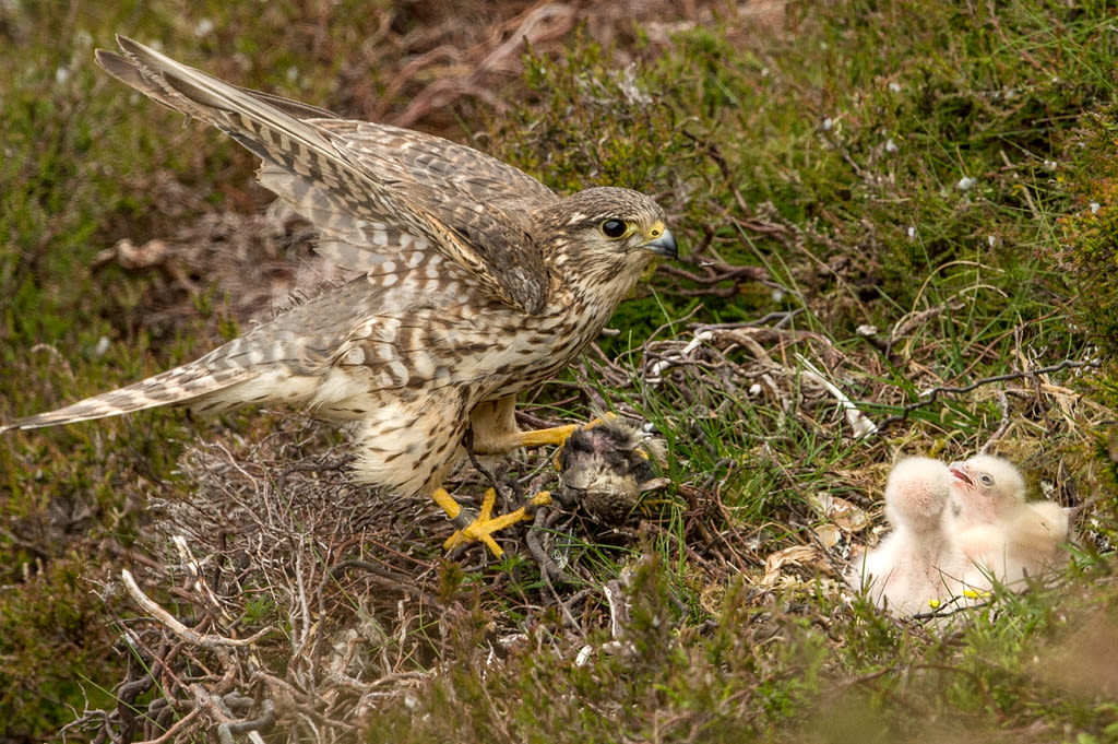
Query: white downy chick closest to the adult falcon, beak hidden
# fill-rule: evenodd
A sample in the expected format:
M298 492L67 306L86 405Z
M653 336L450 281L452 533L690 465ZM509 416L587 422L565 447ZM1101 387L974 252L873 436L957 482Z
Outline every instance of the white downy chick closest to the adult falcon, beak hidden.
M898 462L885 482L885 517L893 531L847 576L898 615L929 612L961 591L967 565L948 531L951 473L930 458Z

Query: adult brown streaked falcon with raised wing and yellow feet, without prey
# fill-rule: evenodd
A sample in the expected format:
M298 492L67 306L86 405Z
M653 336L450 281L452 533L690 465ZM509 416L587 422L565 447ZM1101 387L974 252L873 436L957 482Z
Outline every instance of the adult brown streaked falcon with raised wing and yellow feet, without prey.
M200 359L19 418L0 432L168 404L198 412L287 404L350 430L354 478L426 493L482 540L524 517L473 516L442 488L464 454L561 444L575 426L523 432L517 394L597 337L654 255L674 257L663 210L619 188L560 198L471 148L249 91L117 37L108 74L233 136L260 183L320 233L318 251L362 276L326 289ZM546 500L540 495L537 501Z

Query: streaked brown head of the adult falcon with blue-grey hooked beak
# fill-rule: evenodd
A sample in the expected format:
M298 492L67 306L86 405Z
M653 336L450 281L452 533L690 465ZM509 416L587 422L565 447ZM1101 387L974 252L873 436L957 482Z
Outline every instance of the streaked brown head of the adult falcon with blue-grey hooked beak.
M541 208L543 260L559 282L616 305L654 256L679 255L664 210L638 191L598 187Z

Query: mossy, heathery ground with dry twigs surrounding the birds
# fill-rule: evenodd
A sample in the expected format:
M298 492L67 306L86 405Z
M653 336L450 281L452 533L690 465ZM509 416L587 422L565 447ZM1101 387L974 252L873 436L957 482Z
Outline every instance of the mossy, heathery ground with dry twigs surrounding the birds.
M246 152L96 70L117 31L560 190L654 194L690 252L528 402L667 442L639 524L555 527L567 584L523 531L501 562L445 556L429 505L349 484L299 415L7 434L0 740L200 737L264 700L276 741L1118 738L1118 11L585 4L0 10L0 420L196 356L320 271L305 225L260 217ZM132 263L103 253L122 238ZM874 536L827 499L878 525L898 455L982 448L1079 508L1061 581L946 633L844 592ZM548 455L512 463L522 486L553 483ZM182 643L122 568L199 633L276 631Z

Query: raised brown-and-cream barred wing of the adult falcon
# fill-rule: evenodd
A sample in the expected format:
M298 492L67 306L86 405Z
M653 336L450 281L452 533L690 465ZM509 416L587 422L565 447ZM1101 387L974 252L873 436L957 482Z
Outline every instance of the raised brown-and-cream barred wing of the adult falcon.
M399 249L434 249L489 294L528 313L548 270L525 229L558 197L515 168L447 140L230 85L125 37L97 50L111 75L214 124L258 156L260 182L320 228L320 252L369 271Z

